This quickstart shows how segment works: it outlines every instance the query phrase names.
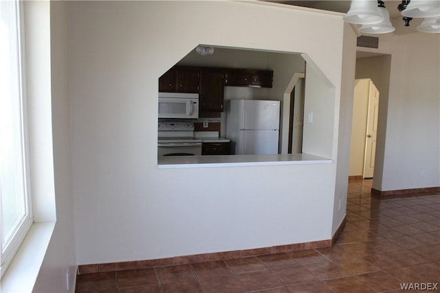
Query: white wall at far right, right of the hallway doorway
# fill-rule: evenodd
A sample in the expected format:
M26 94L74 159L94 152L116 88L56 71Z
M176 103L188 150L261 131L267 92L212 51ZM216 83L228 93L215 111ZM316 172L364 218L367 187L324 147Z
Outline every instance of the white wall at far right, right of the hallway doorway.
M382 131L386 124L386 132L382 132L383 161L381 152L376 152L373 187L382 191L439 187L440 36L405 34L384 40L380 48L391 53L392 58L385 107L380 84L372 78L381 95L379 127ZM369 60L363 64L366 63ZM371 66L370 62L366 71ZM366 71L359 71L357 69L356 78L369 77L365 76ZM381 150L379 133L377 139Z

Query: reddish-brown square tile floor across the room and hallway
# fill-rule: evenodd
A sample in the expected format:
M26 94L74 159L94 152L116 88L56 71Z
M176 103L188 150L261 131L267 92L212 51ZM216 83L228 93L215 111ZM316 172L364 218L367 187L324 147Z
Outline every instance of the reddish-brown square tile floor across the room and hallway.
M77 276L76 292L403 292L440 282L440 194L378 199L351 180L331 248ZM411 291L417 292L417 291Z

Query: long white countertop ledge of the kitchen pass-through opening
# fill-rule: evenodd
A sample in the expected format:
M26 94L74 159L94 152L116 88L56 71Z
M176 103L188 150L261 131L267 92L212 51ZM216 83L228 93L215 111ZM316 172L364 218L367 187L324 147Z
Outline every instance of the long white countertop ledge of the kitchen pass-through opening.
M231 156L162 156L157 167L199 168L199 167L243 167L263 165L331 164L333 160L311 154L244 154Z

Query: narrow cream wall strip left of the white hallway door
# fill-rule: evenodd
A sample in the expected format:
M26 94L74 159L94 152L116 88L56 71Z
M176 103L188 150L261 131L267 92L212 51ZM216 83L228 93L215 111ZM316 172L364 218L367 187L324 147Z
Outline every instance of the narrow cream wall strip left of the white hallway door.
M370 79L355 80L349 176L362 176L366 139L366 119L369 110Z

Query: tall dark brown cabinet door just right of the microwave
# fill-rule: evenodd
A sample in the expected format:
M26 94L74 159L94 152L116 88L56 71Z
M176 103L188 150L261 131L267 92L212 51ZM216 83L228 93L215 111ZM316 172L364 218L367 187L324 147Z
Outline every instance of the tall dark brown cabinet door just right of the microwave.
M223 112L223 73L201 71L199 105L200 111Z

